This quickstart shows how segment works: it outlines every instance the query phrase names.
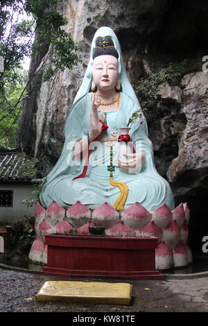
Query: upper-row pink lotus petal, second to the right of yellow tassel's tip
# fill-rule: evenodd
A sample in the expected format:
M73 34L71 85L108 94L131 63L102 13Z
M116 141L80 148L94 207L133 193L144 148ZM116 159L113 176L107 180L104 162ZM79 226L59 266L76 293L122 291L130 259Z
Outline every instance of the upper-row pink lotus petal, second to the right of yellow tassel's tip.
M166 203L155 209L152 213L152 221L154 221L159 228L162 228L162 230L171 223L172 218L171 209L169 209Z

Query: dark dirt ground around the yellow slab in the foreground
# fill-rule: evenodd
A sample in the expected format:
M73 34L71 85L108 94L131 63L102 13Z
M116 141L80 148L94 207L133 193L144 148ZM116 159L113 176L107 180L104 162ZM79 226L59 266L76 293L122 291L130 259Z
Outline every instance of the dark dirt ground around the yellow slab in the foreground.
M200 275L200 274L199 274ZM49 280L63 280L38 273L24 273L0 266L0 312L67 312L73 320L76 316L101 316L89 323L101 323L103 314L113 316L132 315L137 318L141 312L207 312L208 273L199 277L164 278L163 280L125 280L133 286L132 304L71 304L69 302L37 302L36 294ZM67 280L67 279L64 279ZM83 280L82 280L83 281ZM91 282L92 280L85 280ZM121 282L118 280L96 280L96 282ZM128 313L128 314L127 314ZM106 314L105 314L106 315ZM15 315L16 316L16 315ZM119 318L119 317L118 317ZM121 317L120 317L121 318ZM100 319L100 320L99 320ZM93 323L94 321L94 323ZM109 322L108 320L104 320ZM117 320L117 322L138 320ZM116 322L116 320L114 320Z

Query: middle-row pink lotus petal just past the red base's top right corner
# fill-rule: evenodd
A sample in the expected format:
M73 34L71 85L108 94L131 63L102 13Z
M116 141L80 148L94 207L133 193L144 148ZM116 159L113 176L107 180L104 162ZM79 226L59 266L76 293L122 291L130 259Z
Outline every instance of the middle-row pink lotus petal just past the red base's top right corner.
M175 219L163 230L162 241L168 246L174 248L178 241L180 241L180 227L177 225Z

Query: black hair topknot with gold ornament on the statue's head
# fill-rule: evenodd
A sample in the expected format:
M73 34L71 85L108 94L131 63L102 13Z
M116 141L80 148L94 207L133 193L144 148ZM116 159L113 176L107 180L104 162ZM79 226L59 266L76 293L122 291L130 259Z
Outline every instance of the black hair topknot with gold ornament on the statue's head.
M113 55L119 59L119 53L116 51L111 37L98 37L92 58L94 59L98 55Z

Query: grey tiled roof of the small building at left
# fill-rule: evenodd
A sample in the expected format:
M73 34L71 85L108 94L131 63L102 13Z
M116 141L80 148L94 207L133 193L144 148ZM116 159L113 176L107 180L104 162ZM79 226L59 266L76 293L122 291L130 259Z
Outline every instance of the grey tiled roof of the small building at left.
M31 182L34 178L35 160L25 153L0 152L0 182Z

